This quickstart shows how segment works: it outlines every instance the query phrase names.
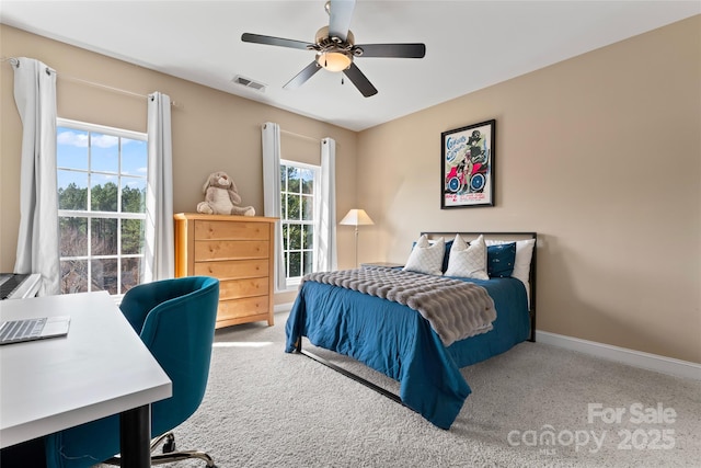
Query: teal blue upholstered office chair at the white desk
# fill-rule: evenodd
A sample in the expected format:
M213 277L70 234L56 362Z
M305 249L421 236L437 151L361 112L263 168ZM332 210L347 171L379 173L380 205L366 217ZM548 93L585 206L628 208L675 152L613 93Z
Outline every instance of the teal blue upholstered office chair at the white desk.
M142 284L129 289L119 308L173 383L173 396L151 404L151 450L162 442L163 454L152 465L199 458L216 468L203 452L176 452L171 430L199 407L207 387L214 341L219 281L186 276ZM99 313L95 310L95 313ZM99 463L118 465L119 416L113 415L45 437L48 468L81 468Z

